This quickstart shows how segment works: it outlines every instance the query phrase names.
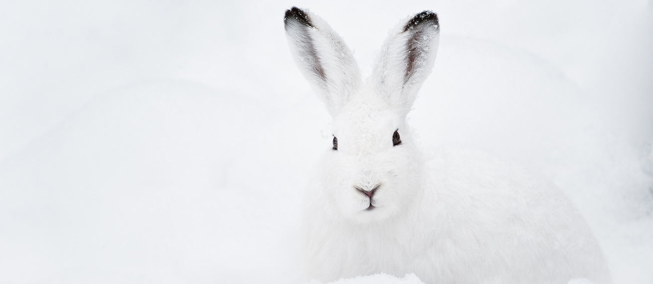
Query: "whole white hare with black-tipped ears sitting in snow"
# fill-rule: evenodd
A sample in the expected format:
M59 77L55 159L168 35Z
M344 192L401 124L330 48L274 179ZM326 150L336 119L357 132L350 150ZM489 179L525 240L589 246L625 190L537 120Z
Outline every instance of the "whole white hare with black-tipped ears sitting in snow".
M591 230L556 187L482 154L427 159L415 146L406 115L434 65L435 13L394 27L365 83L324 20L293 7L284 22L296 65L333 118L333 148L304 212L308 277L611 283Z

